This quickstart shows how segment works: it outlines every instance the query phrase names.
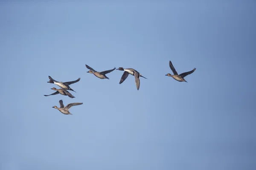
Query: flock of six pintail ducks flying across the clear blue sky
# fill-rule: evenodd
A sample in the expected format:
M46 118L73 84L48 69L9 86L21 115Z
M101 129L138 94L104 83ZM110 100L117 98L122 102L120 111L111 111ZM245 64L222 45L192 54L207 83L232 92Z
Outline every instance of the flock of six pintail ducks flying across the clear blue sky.
M100 79L109 79L106 74L114 71L116 68L113 68L111 70L107 70L107 71L102 71L102 72L98 72L98 71L95 71L93 68L91 68L90 66L88 65L85 65L89 71L87 71L87 73L91 73L91 74L94 74L96 77L100 78ZM186 77L187 75L189 74L192 74L196 68L194 68L192 71L188 71L188 72L185 72L185 73L182 73L182 74L178 74L177 71L175 70L174 66L172 65L172 62L169 61L169 66L173 72L173 75L172 74L166 74L166 76L169 76L169 77L172 77L174 78L175 80L179 81L179 82L187 82L184 77ZM133 68L122 68L122 67L119 67L117 68L116 70L120 70L120 71L124 71L121 79L120 79L120 82L119 84L121 84L122 82L125 81L125 79L128 77L129 74L133 75L135 77L135 82L136 82L136 86L137 86L137 90L139 90L140 88L140 77L143 77L138 71L134 70ZM145 78L145 77L143 77ZM70 98L75 98L72 94L70 94L70 91L74 91L72 88L70 88L69 85L73 84L73 83L76 83L76 82L79 82L80 78L75 80L75 81L72 81L72 82L58 82L54 79L52 79L52 77L49 76L49 83L53 83L55 85L58 85L60 87L60 89L56 89L56 88L51 88L52 90L56 91L55 93L53 94L49 94L49 95L44 95L44 96L51 96L51 95L55 95L55 94L62 94L64 96L69 96ZM145 78L147 79L147 78ZM76 91L74 91L76 92ZM72 106L76 106L76 105L82 105L83 103L70 103L66 106L64 106L63 104L63 101L60 100L59 101L60 103L60 108L58 108L57 106L53 106L52 108L55 108L55 109L58 109L61 113L63 114L71 114L69 112L69 109L72 107Z

